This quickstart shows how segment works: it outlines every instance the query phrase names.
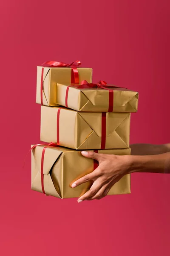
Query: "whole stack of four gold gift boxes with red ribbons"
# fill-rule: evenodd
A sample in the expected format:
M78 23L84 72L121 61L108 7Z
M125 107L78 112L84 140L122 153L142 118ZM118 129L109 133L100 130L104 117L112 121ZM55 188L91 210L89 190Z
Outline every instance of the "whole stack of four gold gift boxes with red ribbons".
M92 83L92 69L79 62L47 62L37 67L37 97L41 104L40 140L32 146L31 189L58 198L79 197L91 182L71 184L93 172L95 160L81 151L130 154L130 113L137 111L138 93L126 88ZM130 193L125 175L108 195Z

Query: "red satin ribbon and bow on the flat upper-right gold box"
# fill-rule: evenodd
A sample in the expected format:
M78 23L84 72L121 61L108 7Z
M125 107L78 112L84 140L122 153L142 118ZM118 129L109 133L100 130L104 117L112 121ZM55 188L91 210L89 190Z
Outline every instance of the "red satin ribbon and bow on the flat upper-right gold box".
M65 94L65 106L68 108L68 90L69 87L75 86L75 85L69 85L66 89L66 94ZM89 88L101 88L109 91L109 107L108 107L108 112L113 112L113 90L109 89L109 87L112 88L119 88L114 85L107 85L107 83L103 80L100 80L97 84L94 83L88 83L88 81L83 80L81 82L81 85L77 86L77 89L89 89Z

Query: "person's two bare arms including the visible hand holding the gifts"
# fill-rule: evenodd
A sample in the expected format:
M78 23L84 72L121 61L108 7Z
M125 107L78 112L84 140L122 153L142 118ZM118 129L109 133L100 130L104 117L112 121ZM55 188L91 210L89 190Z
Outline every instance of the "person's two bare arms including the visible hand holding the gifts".
M130 148L132 155L125 156L82 151L83 156L96 159L99 166L93 172L72 183L71 187L74 188L82 183L93 181L88 192L78 199L79 203L105 197L111 187L129 173L170 173L170 144L133 144Z

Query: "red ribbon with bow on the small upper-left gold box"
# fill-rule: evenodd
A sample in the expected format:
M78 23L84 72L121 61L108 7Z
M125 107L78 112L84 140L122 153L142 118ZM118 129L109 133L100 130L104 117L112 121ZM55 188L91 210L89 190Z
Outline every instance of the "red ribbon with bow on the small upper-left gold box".
M41 71L41 105L43 105L42 92L43 92L43 74L44 67L71 67L71 84L79 84L79 73L77 67L81 65L81 61L74 61L71 64L66 64L58 61L46 61L42 63Z

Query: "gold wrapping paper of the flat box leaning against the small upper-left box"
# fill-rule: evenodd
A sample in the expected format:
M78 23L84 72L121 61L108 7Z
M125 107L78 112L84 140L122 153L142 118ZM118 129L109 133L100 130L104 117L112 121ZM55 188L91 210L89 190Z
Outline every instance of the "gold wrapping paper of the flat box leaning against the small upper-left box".
M58 105L65 105L66 88L70 84L57 83ZM80 85L80 84L79 84ZM101 88L77 88L71 85L68 91L68 108L84 112L108 112L109 91ZM138 93L124 88L109 88L113 90L113 112L136 112Z

